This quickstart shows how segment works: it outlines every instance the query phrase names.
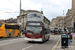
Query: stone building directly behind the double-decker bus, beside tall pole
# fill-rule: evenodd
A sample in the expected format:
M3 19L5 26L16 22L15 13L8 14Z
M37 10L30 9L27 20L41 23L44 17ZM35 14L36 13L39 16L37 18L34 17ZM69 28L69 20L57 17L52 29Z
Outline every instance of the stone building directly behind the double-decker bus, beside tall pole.
M25 28L25 25L26 25L27 14L32 12L43 14L43 11L40 12L37 10L21 10L21 23L23 28ZM17 23L20 23L20 16L17 16Z

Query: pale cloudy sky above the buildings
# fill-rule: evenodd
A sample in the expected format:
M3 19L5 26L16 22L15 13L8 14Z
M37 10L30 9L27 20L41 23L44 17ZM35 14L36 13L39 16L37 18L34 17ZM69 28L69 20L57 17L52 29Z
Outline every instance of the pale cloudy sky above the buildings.
M72 0L21 0L21 8L24 10L43 9L44 16L49 20L57 16L66 16L67 10L72 8ZM10 12L10 13L8 13ZM0 1L0 20L17 18L20 12L20 0Z

